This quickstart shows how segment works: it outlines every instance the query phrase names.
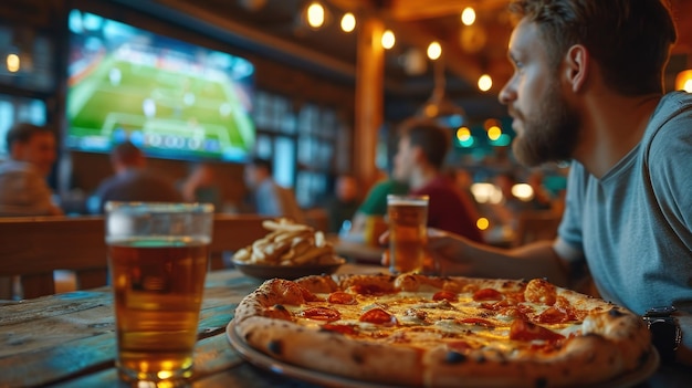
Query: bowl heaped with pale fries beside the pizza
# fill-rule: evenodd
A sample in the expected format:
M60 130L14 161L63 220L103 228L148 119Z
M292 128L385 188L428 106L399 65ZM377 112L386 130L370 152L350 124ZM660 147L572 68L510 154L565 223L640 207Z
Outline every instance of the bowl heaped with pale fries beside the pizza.
M293 280L334 273L346 261L336 255L324 232L287 219L262 223L268 234L233 254L233 265L258 279Z

